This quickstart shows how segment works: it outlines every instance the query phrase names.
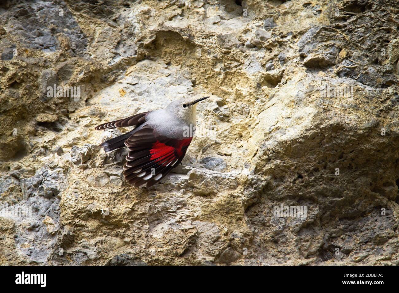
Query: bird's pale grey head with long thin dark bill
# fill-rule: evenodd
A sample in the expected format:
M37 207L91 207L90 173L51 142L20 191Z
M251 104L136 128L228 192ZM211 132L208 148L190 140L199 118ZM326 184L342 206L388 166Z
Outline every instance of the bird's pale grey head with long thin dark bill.
M186 122L188 125L196 125L197 103L209 98L180 98L171 102L166 108L174 117Z

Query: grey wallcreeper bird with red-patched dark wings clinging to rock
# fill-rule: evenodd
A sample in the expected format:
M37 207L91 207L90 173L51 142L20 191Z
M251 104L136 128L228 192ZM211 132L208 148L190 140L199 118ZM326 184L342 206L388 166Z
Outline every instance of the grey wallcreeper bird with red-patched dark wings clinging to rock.
M130 132L103 142L101 147L105 151L128 147L123 166L126 181L136 187L144 183L150 187L168 175L186 155L194 135L194 131L188 130L196 125L197 103L206 98L209 96L197 100L181 98L164 109L101 124L95 129L134 126Z

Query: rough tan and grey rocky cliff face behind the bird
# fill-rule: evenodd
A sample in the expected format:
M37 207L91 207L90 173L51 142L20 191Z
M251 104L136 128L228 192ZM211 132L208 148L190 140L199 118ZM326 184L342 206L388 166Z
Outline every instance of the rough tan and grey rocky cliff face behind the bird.
M0 6L0 264L399 264L396 0ZM55 85L55 86L54 86ZM210 95L126 185L97 124Z

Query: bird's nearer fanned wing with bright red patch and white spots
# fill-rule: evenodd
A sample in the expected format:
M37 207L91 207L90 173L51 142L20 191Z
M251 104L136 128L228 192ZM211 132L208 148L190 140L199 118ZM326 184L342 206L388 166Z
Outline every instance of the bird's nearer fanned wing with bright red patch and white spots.
M125 141L129 149L123 166L126 181L136 187L154 185L182 161L191 141L192 137L166 138L149 125L143 126Z

